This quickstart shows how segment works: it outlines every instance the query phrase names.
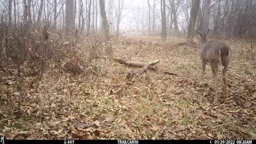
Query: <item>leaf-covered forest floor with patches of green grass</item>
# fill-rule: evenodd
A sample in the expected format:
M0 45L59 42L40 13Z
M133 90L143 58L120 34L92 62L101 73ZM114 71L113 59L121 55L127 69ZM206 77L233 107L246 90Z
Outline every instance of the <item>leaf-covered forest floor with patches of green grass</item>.
M160 60L158 68L132 80L117 62L94 60L100 76L47 73L29 80L23 96L13 66L0 69L0 135L6 139L256 139L256 65L249 42L227 41L233 56L228 68L228 97L223 83L213 103L214 80L202 65L199 46L170 37L126 37L113 44L113 57ZM255 55L254 55L255 57ZM222 73L219 70L222 77Z

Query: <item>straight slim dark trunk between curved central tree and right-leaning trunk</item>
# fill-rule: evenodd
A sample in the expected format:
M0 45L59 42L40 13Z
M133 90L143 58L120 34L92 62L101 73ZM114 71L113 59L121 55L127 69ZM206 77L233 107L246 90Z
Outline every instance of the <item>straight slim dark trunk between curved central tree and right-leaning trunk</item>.
M162 15L162 41L166 41L166 12L165 0L161 0L161 15Z

